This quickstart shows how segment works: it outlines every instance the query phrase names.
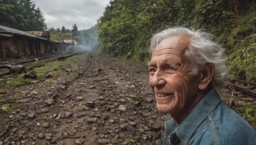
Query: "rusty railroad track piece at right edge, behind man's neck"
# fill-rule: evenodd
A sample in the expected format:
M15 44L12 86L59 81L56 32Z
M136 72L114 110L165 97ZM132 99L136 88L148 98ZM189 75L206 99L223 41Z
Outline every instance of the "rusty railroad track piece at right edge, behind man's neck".
M256 83L250 83L240 79L230 79L227 85L235 90L245 93L246 95L256 97Z

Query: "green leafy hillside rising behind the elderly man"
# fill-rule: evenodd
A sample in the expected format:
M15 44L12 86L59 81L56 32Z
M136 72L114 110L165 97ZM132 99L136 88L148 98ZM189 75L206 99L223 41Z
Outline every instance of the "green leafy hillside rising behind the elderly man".
M227 50L230 78L256 81L253 0L113 0L99 19L100 51L148 61L148 40L166 27L206 29Z

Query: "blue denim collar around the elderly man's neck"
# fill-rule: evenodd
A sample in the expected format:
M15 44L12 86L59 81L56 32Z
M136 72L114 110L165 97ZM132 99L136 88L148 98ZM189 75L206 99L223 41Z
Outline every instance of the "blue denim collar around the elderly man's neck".
M211 111L221 102L220 96L212 88L193 108L188 117L177 127L176 134L180 141L188 143L196 128L204 121Z

